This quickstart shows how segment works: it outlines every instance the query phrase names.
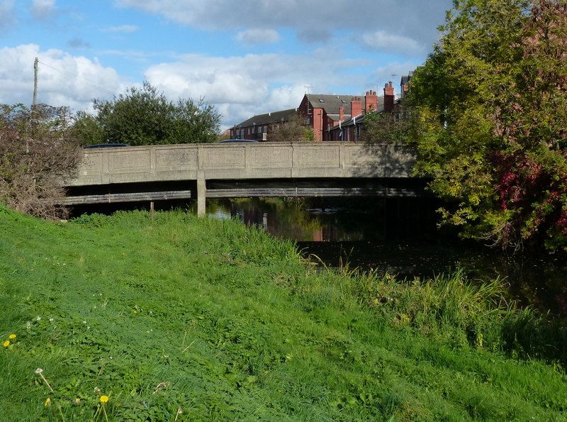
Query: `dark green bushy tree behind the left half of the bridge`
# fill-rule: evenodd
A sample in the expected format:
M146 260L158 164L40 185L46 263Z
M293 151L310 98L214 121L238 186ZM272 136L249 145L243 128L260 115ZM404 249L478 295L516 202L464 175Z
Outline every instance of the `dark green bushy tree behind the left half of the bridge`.
M103 139L110 143L153 145L214 142L220 114L203 99L176 104L149 82L130 87L113 101L94 99Z

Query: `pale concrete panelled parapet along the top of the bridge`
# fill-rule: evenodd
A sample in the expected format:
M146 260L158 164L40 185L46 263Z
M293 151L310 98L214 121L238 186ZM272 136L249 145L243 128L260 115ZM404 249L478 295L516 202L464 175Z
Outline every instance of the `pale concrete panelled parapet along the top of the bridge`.
M84 150L67 186L199 179L411 177L407 147L361 143L150 145Z

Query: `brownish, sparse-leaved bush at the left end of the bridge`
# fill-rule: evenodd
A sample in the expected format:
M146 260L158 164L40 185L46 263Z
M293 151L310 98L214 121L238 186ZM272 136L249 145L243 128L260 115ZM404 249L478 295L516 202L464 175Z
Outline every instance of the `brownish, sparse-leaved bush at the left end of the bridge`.
M67 107L0 105L0 201L49 219L65 218L64 180L80 155Z

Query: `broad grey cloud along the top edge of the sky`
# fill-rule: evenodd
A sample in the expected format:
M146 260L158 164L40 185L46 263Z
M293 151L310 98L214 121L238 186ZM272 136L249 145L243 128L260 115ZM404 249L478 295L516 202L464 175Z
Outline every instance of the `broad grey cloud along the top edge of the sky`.
M451 0L115 0L171 21L207 29L291 28L304 42L329 40L335 30L383 31L428 48ZM402 44L408 46L408 42ZM409 44L410 48L415 45Z

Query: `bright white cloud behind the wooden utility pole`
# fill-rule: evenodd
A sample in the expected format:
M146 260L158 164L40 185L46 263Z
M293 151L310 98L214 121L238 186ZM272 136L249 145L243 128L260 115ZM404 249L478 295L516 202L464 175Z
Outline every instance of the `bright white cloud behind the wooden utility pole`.
M124 89L116 70L98 60L69 55L62 50L40 50L38 45L0 48L0 104L30 104L33 60L39 57L38 101L81 110L91 99L108 98Z

